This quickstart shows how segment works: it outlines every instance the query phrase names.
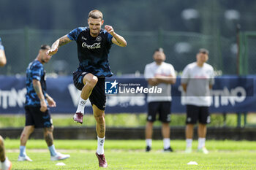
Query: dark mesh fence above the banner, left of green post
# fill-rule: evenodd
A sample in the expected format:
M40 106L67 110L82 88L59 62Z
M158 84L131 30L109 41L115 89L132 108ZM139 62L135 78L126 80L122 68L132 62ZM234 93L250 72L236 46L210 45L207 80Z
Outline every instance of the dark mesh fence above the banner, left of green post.
M0 74L25 74L29 62L36 58L40 45L51 45L70 30L34 30L30 28L0 31L7 55L7 66ZM210 51L209 61L215 70L223 74L236 74L236 36L226 39L189 32L172 31L117 31L127 40L127 47L113 45L110 51L110 67L114 74L143 73L147 63L153 61L153 51L163 47L167 62L181 72L188 63L195 61L197 50L205 47ZM76 43L59 49L45 65L47 72L70 74L78 67ZM251 57L250 57L251 58Z

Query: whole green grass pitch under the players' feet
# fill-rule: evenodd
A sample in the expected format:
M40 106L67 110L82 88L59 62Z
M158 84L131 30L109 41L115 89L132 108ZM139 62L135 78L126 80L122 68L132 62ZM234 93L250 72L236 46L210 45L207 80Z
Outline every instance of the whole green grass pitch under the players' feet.
M6 139L7 156L12 169L99 169L95 150L96 140L56 140L57 151L70 154L64 161L50 161L50 153L43 140L30 139L26 152L33 162L18 162L19 141ZM207 141L208 155L196 152L193 142L191 154L184 153L186 143L171 141L174 152L162 152L162 141L153 141L151 152L145 152L143 140L106 140L107 169L256 169L256 142ZM187 165L195 161L198 165ZM56 163L66 166L56 166Z

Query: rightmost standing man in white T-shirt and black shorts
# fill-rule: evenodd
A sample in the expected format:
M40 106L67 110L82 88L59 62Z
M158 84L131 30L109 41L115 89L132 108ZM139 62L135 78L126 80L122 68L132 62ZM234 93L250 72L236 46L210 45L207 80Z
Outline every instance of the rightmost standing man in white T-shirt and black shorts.
M198 152L208 153L206 150L206 124L211 123L209 107L211 105L210 90L214 85L214 69L206 63L208 61L208 50L200 49L197 53L197 62L189 63L182 73L181 85L186 93L185 102L187 104L187 127L185 152L192 152L192 139L194 125L199 120Z

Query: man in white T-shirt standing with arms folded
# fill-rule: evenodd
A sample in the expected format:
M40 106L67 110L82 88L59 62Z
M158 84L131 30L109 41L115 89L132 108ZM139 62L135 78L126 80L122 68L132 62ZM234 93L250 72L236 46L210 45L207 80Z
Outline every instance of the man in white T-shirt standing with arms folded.
M146 123L146 152L151 150L153 123L156 120L157 113L159 120L162 121L162 137L164 142L164 151L173 152L170 147L170 112L171 101L170 96L171 84L176 82L176 74L173 65L165 63L165 53L162 48L154 51L154 62L148 63L145 68L144 76L148 81L148 88L157 86L162 88L162 94L165 96L157 96L148 93L148 116Z

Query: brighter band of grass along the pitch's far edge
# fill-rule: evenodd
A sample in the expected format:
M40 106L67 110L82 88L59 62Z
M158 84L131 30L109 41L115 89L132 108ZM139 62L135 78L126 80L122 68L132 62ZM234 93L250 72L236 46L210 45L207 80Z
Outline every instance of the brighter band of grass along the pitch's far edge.
M18 139L5 139L5 147L7 149L18 149L20 141ZM65 150L96 150L97 140L55 140L54 144L57 149ZM186 147L185 140L171 140L171 147L173 150L184 150ZM105 150L144 150L146 143L144 140L108 140L105 141ZM162 140L154 140L152 150L162 150ZM197 140L192 144L194 150L197 149ZM206 141L208 150L256 150L256 142L249 141ZM47 149L44 140L29 139L26 145L27 149ZM256 155L256 154L255 154Z

